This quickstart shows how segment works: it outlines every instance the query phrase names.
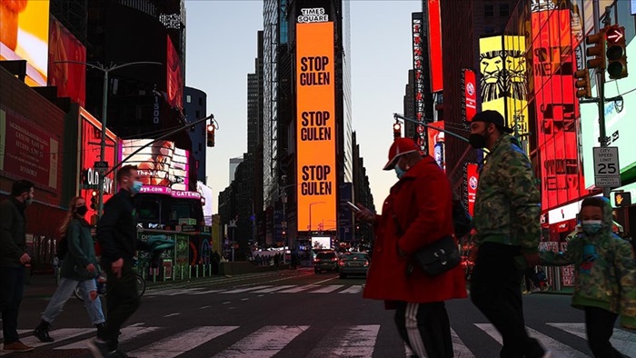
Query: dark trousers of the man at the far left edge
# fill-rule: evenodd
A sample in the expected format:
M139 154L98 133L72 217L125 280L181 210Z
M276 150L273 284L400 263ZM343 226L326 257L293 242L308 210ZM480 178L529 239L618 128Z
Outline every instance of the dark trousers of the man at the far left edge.
M25 288L24 267L0 267L0 311L5 345L18 342L17 313Z

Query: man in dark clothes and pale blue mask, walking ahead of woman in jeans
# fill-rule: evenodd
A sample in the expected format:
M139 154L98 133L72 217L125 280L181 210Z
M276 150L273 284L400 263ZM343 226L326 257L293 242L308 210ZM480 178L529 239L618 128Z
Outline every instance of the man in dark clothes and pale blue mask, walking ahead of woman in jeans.
M133 257L148 244L137 238L134 195L143 184L135 165L124 165L117 173L119 193L104 205L104 215L97 224L97 240L102 249L101 264L106 273L106 323L97 338L88 342L94 357L125 356L118 350L119 332L124 322L139 307Z

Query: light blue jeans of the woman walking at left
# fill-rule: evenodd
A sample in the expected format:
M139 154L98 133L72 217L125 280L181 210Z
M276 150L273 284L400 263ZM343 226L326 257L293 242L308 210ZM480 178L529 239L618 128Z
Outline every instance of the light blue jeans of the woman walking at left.
M97 291L97 286L94 279L75 281L70 278L62 277L60 284L57 286L57 290L53 293L51 301L46 306L45 313L42 314L42 320L48 323L52 323L58 314L62 312L66 301L71 298L75 288L79 286L80 293L84 298L84 307L88 313L88 318L92 324L104 323L104 313L102 312L102 301L99 296L91 301L89 293L91 291Z

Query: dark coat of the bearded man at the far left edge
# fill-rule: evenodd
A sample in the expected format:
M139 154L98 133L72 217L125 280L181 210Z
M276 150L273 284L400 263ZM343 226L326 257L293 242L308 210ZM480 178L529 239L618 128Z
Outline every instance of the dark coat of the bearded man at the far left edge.
M25 204L9 197L0 203L0 267L23 267L26 253Z

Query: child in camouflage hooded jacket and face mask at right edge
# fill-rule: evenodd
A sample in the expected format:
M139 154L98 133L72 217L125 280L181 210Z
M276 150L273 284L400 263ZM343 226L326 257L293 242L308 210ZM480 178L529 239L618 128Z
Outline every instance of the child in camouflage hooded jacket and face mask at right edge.
M588 344L595 358L625 357L611 346L614 323L636 329L636 262L631 244L611 232L611 204L604 197L581 203L582 233L565 252L541 253L542 264L574 264L571 305L585 312Z

